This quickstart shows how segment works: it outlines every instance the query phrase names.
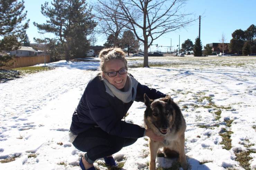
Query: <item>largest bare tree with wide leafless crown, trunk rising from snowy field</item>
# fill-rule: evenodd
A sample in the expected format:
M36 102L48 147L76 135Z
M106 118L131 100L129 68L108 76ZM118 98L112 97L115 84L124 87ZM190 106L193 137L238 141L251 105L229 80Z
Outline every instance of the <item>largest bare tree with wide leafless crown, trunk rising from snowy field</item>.
M167 32L186 27L195 20L183 13L187 0L109 0L100 1L105 9L116 12L117 21L134 32L144 44L144 67L148 67L148 48ZM122 21L122 22L120 22ZM124 24L128 23L128 24Z

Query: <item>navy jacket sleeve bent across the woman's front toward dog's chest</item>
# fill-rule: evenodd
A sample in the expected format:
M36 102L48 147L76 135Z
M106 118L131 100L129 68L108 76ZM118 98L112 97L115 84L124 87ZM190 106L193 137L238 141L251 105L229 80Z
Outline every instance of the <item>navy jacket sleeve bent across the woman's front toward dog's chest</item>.
M106 98L106 94L100 94L99 90L86 91L86 104L90 116L102 130L124 138L143 137L145 128L119 120L116 116L118 113L115 113L110 102Z

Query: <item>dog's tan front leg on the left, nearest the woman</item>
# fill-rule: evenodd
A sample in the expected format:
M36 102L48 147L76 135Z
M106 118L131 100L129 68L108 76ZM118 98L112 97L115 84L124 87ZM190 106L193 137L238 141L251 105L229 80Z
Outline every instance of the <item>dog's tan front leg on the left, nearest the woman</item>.
M156 170L156 155L159 148L159 142L149 139L149 170Z

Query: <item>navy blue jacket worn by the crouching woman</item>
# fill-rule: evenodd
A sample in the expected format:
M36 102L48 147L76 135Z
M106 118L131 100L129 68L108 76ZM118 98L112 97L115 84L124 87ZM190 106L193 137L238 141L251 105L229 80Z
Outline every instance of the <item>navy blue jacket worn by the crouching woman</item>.
M153 88L138 83L135 101L144 102L144 93L150 99L158 99L166 95ZM137 124L122 121L133 101L123 103L116 96L106 92L106 87L100 76L91 79L84 90L83 96L72 116L70 131L77 135L99 126L111 135L124 138L140 138L144 135L144 128ZM144 114L144 113L141 113Z

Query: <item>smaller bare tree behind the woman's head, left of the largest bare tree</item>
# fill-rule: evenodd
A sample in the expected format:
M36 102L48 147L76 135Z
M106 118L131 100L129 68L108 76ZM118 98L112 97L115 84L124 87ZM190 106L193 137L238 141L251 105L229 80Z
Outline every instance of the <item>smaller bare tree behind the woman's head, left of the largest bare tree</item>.
M93 7L94 16L98 19L97 32L104 34L106 37L110 35L114 38L114 46L118 46L120 38L127 22L117 18L117 14L120 13L120 7L118 1L112 1L108 3L109 8L106 8L108 0L96 3Z

